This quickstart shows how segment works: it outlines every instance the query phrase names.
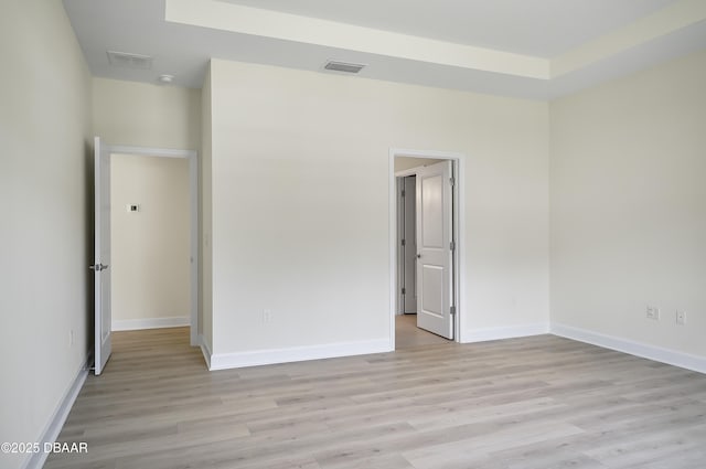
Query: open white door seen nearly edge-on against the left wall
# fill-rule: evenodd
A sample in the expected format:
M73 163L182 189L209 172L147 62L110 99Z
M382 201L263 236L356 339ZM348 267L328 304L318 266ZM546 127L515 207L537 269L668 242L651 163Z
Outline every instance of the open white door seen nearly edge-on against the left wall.
M95 372L103 372L110 358L110 150L95 138Z

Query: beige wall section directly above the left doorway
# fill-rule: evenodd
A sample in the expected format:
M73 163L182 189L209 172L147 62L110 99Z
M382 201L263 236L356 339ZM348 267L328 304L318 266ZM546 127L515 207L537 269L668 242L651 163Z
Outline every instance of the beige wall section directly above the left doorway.
M197 150L201 90L93 79L94 130L108 145Z

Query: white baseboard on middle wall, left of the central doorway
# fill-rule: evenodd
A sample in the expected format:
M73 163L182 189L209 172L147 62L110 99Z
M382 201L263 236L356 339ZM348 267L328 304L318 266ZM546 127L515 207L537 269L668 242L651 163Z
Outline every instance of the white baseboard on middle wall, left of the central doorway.
M336 356L366 355L392 352L389 340L331 343L325 345L293 347L289 349L256 350L253 352L211 354L208 370L227 370ZM206 361L208 361L206 359Z

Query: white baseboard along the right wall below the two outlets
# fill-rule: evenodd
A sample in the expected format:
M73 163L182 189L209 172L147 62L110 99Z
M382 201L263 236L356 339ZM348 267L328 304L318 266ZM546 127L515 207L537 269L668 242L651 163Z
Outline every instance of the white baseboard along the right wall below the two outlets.
M650 359L670 365L697 371L699 373L706 373L706 358L704 356L696 356L674 350L662 349L660 347L634 342L613 335L606 335L556 322L552 323L552 333L554 335L590 343L605 349L617 350L619 352L629 353L643 359Z

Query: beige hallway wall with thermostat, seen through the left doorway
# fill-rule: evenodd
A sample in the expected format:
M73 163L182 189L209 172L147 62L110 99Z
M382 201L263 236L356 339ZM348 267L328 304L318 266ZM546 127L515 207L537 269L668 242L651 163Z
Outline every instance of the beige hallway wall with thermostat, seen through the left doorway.
M189 322L189 160L113 154L110 170L114 329Z

